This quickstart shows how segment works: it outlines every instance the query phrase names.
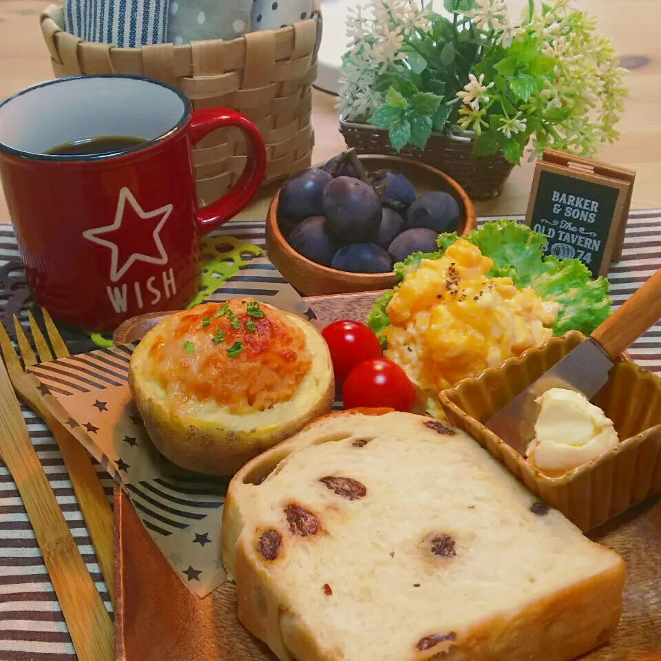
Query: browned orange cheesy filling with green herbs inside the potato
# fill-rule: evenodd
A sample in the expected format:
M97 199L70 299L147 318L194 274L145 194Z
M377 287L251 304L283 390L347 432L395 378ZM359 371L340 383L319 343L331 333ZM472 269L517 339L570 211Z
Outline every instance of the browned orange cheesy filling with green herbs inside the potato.
M149 349L149 376L175 410L186 410L191 401L213 401L245 415L295 395L312 364L305 335L270 306L259 308L263 316L249 314L252 303L234 299L227 308L196 306L156 338Z

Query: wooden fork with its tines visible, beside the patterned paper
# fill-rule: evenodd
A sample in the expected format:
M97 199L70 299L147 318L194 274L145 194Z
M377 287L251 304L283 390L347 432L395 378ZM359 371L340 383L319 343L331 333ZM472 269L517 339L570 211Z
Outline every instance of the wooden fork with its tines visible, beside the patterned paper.
M45 322L46 333L50 338L54 352L58 358L65 358L69 355L61 335L59 334L55 324L53 323L50 315L42 308L43 319ZM48 347L45 337L41 334L36 320L30 312L28 312L28 320L30 322L30 329L32 330L32 337L36 350L39 353L41 362L53 360L53 355ZM25 362L25 368L28 368L37 363L36 356L32 351L28 337L25 336L23 328L19 323L16 315L14 315L14 328L16 330L16 337L19 343L19 350ZM113 605L115 602L115 583L114 583L114 554L113 554L113 517L112 510L109 502L103 492L101 482L98 480L98 475L94 470L90 455L87 450L83 448L80 441L73 436L73 434L63 426L63 424L54 417L48 407L43 401L43 396L39 392L37 386L38 381L34 375L30 375L23 371L19 357L17 356L12 343L0 324L0 348L5 357L9 377L14 386L14 390L19 394L19 397L25 401L39 417L50 428L57 444L59 445L60 452L64 459L69 478L74 487L74 494L78 506L81 508L85 525L90 532L90 538L96 558L98 559L98 566L101 568L103 580L107 588L110 600Z

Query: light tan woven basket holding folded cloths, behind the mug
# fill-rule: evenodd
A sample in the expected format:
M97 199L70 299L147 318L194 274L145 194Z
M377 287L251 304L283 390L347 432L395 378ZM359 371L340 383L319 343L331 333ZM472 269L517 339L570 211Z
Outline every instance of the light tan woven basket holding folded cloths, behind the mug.
M280 30L251 32L234 41L196 41L114 48L63 30L63 11L51 5L41 30L57 77L131 74L178 87L193 109L233 108L248 116L266 144L264 183L311 165L312 85L321 41L319 12ZM239 178L246 160L237 129L218 129L198 143L194 163L200 204L218 199Z

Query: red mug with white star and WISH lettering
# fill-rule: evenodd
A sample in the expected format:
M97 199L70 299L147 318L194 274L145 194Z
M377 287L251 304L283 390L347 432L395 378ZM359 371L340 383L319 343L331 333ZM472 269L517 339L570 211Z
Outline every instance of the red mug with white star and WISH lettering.
M191 145L228 126L246 136L246 167L226 196L198 207ZM90 138L107 140L92 154L46 153ZM147 78L60 78L0 103L0 178L28 285L54 317L90 330L185 307L200 282L200 235L249 202L265 167L249 119L193 112Z

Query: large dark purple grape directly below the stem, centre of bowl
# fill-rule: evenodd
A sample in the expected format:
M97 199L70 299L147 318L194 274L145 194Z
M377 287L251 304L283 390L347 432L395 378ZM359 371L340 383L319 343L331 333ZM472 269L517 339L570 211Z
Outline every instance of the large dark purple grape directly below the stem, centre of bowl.
M381 223L381 201L365 182L337 177L324 190L324 216L343 243L371 242Z

